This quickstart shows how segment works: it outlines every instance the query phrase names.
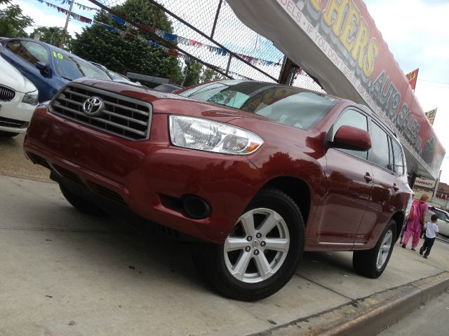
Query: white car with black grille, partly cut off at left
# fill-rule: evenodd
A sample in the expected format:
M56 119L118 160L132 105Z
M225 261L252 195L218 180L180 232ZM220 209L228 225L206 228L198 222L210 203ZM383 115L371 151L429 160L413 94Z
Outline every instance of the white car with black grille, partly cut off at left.
M38 102L34 84L0 57L0 137L27 132Z

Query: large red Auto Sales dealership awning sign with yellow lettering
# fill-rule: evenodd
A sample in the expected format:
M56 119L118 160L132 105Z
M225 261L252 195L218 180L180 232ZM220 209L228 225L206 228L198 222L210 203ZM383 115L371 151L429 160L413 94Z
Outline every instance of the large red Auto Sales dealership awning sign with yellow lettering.
M363 1L227 2L326 92L370 106L401 139L408 170L436 179L445 150Z

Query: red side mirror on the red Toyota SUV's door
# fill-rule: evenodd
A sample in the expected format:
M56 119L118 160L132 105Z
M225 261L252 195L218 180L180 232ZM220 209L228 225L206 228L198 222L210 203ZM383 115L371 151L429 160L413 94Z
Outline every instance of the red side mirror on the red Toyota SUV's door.
M368 151L371 148L371 136L359 128L343 125L335 133L334 141L330 143L330 146L353 151Z

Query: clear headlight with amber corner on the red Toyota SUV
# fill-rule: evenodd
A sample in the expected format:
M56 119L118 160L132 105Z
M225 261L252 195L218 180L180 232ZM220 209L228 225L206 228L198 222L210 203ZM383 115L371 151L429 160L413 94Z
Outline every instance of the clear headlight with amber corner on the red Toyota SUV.
M170 139L175 146L235 155L254 153L264 143L239 127L184 116L170 116Z

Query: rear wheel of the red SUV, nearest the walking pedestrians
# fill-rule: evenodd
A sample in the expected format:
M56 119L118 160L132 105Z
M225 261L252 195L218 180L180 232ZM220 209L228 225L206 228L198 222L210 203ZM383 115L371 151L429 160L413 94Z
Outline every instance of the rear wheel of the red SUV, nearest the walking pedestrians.
M393 252L396 227L396 221L390 219L374 248L368 251L354 251L352 266L358 274L376 279L384 272Z

